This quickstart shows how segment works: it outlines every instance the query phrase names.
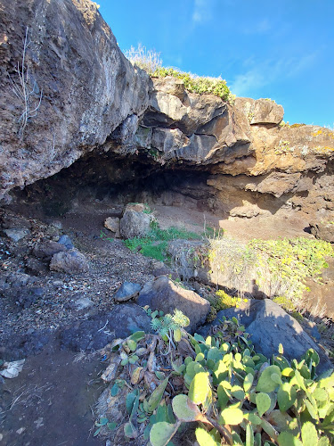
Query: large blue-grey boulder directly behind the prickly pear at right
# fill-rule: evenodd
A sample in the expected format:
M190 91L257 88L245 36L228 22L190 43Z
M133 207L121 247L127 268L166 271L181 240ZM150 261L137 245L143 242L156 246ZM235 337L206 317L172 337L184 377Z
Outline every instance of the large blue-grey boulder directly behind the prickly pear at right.
M251 335L250 340L254 343L256 351L264 354L267 358L278 354L281 343L284 356L289 360L300 359L305 351L314 349L318 351L321 359L317 368L318 373L334 368L322 348L305 333L297 320L291 318L286 311L270 299L251 300L247 304L245 303L242 309L231 308L219 311L212 325L218 325L219 319L221 320L223 317L240 318L240 323ZM209 326L206 326L200 330L200 333L205 335L208 330Z

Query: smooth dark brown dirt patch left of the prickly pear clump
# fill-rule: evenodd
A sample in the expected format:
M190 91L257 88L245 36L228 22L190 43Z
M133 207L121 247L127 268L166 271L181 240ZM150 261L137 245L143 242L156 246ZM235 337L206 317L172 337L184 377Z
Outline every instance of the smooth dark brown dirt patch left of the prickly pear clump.
M94 405L104 389L99 359L77 362L77 354L60 351L57 343L29 357L20 375L3 385L0 444L105 444L93 437Z

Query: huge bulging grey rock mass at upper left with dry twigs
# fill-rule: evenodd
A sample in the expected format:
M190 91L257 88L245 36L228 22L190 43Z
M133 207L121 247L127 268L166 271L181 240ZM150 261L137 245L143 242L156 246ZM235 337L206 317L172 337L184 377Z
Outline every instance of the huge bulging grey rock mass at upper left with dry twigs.
M146 109L149 77L120 52L97 7L0 0L0 195L68 167ZM13 91L22 91L18 64L34 92L27 108Z

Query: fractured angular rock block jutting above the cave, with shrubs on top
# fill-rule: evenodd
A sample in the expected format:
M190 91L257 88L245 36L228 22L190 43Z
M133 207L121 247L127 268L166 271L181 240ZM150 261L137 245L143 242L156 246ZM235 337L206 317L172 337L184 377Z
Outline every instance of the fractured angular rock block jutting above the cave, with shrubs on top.
M161 163L231 163L253 152L244 114L216 95L185 91L180 79L152 79L149 107L141 124L144 127L138 128L133 146L151 148Z

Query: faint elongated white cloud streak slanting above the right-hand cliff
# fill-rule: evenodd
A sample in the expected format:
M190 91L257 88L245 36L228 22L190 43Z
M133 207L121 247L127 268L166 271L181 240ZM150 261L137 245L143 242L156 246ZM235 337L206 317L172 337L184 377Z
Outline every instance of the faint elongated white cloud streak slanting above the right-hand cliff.
M315 53L307 54L300 58L281 58L277 61L254 64L253 68L234 78L231 91L237 96L250 95L261 87L273 84L280 79L297 76L314 62L316 55Z

